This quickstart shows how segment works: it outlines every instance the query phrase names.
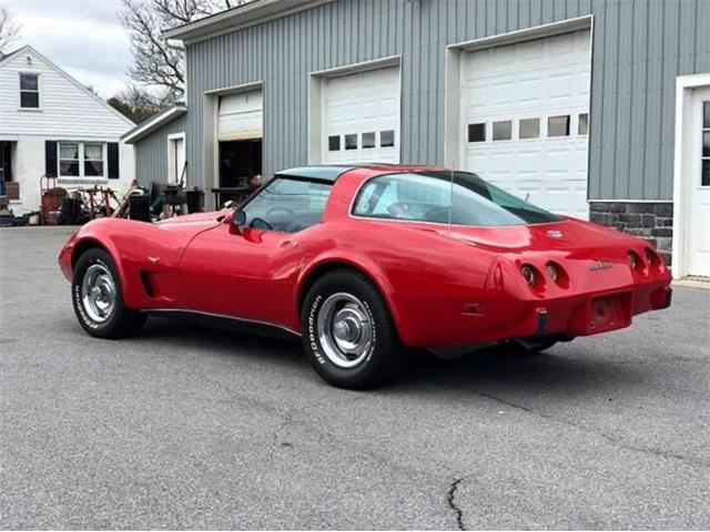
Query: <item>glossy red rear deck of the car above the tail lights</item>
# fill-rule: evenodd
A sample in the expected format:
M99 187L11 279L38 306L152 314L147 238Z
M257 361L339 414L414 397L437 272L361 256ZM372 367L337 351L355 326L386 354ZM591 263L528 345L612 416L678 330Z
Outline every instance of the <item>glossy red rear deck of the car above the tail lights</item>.
M447 236L494 252L535 249L580 249L609 245L628 245L628 235L580 219L506 227L452 226Z

